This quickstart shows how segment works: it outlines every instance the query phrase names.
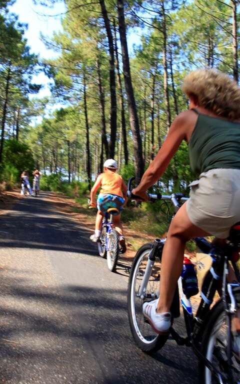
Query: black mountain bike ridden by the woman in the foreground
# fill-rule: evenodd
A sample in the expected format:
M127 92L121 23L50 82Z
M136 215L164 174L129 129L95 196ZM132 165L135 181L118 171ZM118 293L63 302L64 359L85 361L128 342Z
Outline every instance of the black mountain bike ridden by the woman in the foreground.
M131 193L131 181L128 181L128 195ZM174 206L176 212L182 202L187 200L181 193L171 195L150 194L149 199L162 199ZM174 214L173 214L174 215ZM172 326L168 334L154 332L142 313L142 304L159 296L161 254L165 238L155 239L153 243L142 245L133 259L128 282L128 319L132 336L139 348L145 352L160 349L169 335L178 345L191 346L199 359L199 382L201 384L240 384L240 353L237 348L237 336L234 333L234 317L240 313L240 276L237 267L240 246L240 223L235 224L223 246L216 246L206 239L194 239L202 252L212 258L212 266L206 273L201 300L195 315L192 312L190 297L186 297L181 288L181 277L175 290L171 305ZM227 281L229 264L236 276L235 282ZM220 298L213 304L216 291ZM186 327L186 337L182 337L174 326L174 318L180 316L180 303ZM238 313L237 313L238 312Z

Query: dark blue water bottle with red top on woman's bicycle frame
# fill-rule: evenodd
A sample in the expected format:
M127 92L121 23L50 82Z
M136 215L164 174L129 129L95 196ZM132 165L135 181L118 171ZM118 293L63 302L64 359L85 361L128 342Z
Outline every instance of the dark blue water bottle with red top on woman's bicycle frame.
M198 293L197 277L194 265L189 258L184 256L181 272L182 290L186 297L194 296Z

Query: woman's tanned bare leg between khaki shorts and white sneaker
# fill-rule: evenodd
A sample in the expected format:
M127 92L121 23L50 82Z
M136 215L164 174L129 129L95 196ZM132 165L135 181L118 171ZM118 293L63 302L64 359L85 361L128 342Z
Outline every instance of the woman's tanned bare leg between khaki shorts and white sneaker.
M157 312L169 312L177 279L182 270L186 241L193 237L207 235L209 233L192 224L186 213L186 203L184 203L170 223L163 247Z

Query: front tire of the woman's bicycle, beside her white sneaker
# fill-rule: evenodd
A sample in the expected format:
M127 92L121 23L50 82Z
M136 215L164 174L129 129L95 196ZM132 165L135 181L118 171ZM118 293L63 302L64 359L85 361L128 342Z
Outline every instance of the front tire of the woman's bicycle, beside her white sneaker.
M149 332L149 335L144 336L142 334L143 331L140 329L140 322L141 322L141 314L142 314L142 302L140 303L140 300L142 299L139 297L138 300L138 306L139 306L139 320L137 321L136 318L136 308L135 308L135 281L136 281L136 273L137 273L137 268L139 267L141 261L143 260L143 257L147 257L150 249L152 247L152 243L148 242L144 245L142 245L138 251L136 252L136 255L132 261L131 264L131 270L130 270L130 276L128 280L128 290L127 290L127 312L128 312L128 321L130 325L130 330L131 334L133 336L133 339L136 343L136 345L143 350L144 352L147 353L152 353L160 349L166 342L168 338L168 333L166 334L158 334L155 333L154 330L151 328L151 326L143 320L143 325L144 327L144 322L147 324L146 332ZM159 259L158 259L159 260ZM143 272L141 272L142 274ZM143 274L142 274L143 275ZM150 276L151 277L151 276ZM149 280L148 280L149 281ZM159 280L158 280L158 275L157 275L157 280L153 279L152 281L156 281L156 285L159 287ZM134 292L133 292L134 289ZM156 293L157 295L157 293ZM134 296L134 298L133 298ZM134 302L133 302L134 301ZM143 314L142 314L143 317ZM143 317L144 318L144 317ZM149 339L147 339L148 337Z

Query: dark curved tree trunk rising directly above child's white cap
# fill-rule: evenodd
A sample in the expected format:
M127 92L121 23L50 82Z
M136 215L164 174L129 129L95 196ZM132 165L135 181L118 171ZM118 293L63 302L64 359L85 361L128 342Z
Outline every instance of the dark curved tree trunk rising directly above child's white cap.
M107 15L104 0L99 0L101 13L104 20L104 25L108 40L109 49L109 81L110 81L110 142L109 142L109 156L114 158L115 154L115 141L116 141L116 81L115 81L115 63L114 63L114 46L111 33L110 21Z

